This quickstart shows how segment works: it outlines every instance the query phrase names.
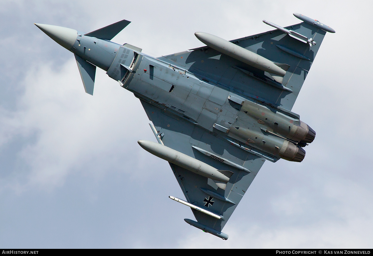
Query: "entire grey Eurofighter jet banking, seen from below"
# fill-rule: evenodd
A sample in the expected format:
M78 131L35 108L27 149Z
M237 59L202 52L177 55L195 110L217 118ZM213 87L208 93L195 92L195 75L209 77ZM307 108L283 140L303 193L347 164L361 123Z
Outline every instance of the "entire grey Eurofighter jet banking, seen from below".
M205 32L206 46L151 57L112 38L130 22L82 33L35 24L71 51L85 92L96 67L140 99L158 143L140 146L169 162L197 221L228 239L223 227L265 160L301 162L316 132L291 112L329 26L294 13L300 24L231 41ZM296 165L296 163L294 163Z

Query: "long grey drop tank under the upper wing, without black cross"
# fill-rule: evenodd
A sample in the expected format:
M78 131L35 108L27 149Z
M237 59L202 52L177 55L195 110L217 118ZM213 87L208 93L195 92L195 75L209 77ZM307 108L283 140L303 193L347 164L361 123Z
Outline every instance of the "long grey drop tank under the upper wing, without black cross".
M217 37L216 35L211 35L205 32L195 32L194 35L198 38L198 40L212 49L242 61L247 65L253 66L254 68L266 71L270 74L279 75L281 77L283 77L286 73L286 70L280 68L271 60L224 40L223 38Z

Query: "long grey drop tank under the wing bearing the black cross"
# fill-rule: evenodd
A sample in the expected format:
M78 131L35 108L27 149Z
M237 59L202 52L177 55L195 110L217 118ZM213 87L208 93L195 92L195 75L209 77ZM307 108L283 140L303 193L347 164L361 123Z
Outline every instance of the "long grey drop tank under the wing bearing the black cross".
M203 177L213 179L214 181L224 182L225 184L220 184L223 185L224 188L221 187L223 189L225 189L225 185L232 175L232 172L230 171L217 170L216 168L208 165L207 163L204 163L191 156L178 152L175 149L166 147L162 144L147 140L139 140L137 142L143 149L145 149L147 152L151 154L154 154L154 156L158 156L170 163L178 165L182 168L187 169L188 171L194 172L195 174L199 174ZM219 186L218 183L217 185Z

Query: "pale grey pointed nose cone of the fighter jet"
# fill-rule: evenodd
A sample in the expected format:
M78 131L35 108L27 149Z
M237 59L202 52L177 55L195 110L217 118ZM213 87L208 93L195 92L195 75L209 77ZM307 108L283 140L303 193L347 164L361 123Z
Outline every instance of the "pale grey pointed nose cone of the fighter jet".
M35 24L35 23L34 23ZM46 33L50 38L59 43L61 46L70 50L74 45L78 32L75 29L64 28L62 26L53 26L46 24L35 24L38 28Z

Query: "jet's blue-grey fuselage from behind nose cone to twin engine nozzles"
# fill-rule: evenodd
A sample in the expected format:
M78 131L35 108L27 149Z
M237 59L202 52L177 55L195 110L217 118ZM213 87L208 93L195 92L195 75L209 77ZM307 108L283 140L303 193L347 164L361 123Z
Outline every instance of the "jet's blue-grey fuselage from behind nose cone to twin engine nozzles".
M78 32L70 51L165 115L191 122L222 140L265 159L301 162L315 132L289 110L243 98L164 58ZM248 85L249 86L249 85Z

